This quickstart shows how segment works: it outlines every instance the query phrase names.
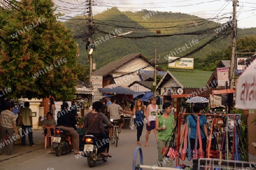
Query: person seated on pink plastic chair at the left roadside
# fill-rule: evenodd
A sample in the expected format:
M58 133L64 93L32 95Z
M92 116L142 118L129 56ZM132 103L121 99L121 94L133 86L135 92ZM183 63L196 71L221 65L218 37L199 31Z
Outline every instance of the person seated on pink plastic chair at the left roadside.
M46 119L44 119L43 121L41 121L42 116L39 117L39 126L54 126L56 127L57 123L55 121L55 119L53 119L53 114L51 112L48 112L46 114ZM44 134L47 135L47 128L44 128ZM51 135L54 135L54 129L51 128ZM54 154L54 150L53 150L53 146L51 146L51 151L48 152L49 154Z

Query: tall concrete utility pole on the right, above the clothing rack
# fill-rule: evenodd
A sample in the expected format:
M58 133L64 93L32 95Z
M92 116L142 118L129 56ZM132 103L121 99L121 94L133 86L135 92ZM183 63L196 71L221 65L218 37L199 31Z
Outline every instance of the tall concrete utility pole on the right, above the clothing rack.
M230 60L230 89L233 88L235 74L235 55L237 51L237 0L233 0L233 32L232 32L232 55Z

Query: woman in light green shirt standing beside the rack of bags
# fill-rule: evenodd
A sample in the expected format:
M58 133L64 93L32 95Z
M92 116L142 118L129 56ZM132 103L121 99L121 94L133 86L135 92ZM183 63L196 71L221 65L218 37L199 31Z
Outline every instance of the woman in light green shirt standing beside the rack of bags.
M171 103L163 104L163 114L158 115L155 120L155 128L158 131L158 165L163 167L163 158L161 150L166 144L166 141L171 135L172 130L174 130L174 115L171 114L172 105ZM169 145L169 143L168 143ZM172 167L172 160L167 161L167 167Z

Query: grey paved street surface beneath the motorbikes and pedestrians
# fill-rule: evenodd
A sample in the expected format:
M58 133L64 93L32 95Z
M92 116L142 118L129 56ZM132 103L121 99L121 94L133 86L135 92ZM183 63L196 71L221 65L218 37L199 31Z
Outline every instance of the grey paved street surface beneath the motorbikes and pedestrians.
M40 132L42 133L42 132ZM96 163L97 169L131 169L133 164L133 156L136 142L136 129L123 129L118 141L118 147L110 144L110 154L112 157L106 163L103 161ZM141 142L145 142L146 128L143 130ZM43 142L43 138L42 138ZM154 133L151 132L149 138L150 147L141 146L143 152L143 163L146 165L154 165L157 161L157 148ZM23 147L24 148L24 147ZM22 155L4 160L1 163L0 169L84 169L89 168L86 157L77 159L73 154L67 154L56 157L55 154L47 154L48 150L43 149L43 143L38 147L27 147L28 149L35 149L35 151L28 151ZM15 149L15 148L14 148ZM14 155L14 154L13 154ZM2 155L1 155L2 156ZM0 156L0 160L1 160ZM139 163L139 158L137 159ZM6 166L8 165L8 166ZM9 168L7 168L9 167Z

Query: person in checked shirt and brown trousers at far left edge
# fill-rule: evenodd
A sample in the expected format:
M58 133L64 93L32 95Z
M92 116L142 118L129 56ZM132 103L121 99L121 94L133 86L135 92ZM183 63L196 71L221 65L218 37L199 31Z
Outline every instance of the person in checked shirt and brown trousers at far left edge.
M16 140L14 137L15 134L18 134L16 131L16 117L14 115L14 103L9 102L7 109L3 110L0 114L0 144L5 145L7 148L7 155L11 155L11 151L13 151L13 144ZM7 136L7 140L5 140L5 137ZM4 146L3 146L4 147ZM0 147L0 155L2 154L3 147Z

